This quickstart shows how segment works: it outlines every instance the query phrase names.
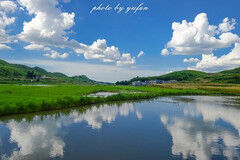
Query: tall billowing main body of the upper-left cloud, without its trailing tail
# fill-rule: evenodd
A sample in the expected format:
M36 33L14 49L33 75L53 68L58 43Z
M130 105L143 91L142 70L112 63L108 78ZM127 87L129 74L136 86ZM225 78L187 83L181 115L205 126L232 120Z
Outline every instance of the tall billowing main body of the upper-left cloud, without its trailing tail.
M79 46L69 40L67 30L74 25L74 13L61 12L57 0L18 0L34 17L24 22L19 38L33 44L55 47Z

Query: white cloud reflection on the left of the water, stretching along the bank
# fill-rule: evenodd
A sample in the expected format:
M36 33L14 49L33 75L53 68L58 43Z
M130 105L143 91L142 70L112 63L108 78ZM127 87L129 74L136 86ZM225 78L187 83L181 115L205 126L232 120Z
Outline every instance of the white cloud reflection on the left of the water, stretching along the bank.
M102 105L92 107L85 112L72 111L69 115L35 116L30 122L26 119L21 121L9 120L6 126L9 128L10 143L16 143L18 148L12 151L8 157L2 155L2 159L46 159L49 157L63 157L65 142L59 132L61 127L73 123L87 122L92 129L100 129L104 122L112 123L118 115L128 116L134 112L133 104L124 103L117 105ZM139 112L140 113L140 112Z

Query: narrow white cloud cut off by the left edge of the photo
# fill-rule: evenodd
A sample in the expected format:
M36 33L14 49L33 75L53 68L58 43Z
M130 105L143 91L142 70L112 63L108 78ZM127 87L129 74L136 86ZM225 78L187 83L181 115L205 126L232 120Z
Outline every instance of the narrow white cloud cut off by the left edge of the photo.
M8 43L14 43L15 38L7 33L6 27L15 22L15 17L9 17L9 13L15 12L17 5L13 1L0 1L0 49L11 49Z

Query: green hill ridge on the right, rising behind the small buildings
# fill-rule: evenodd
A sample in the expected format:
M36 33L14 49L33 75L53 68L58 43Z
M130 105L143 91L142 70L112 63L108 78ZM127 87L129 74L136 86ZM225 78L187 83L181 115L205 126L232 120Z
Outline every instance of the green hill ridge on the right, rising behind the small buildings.
M160 76L135 77L129 81L117 82L117 85L130 85L135 81L152 81L152 80L177 80L178 82L209 82L209 83L234 83L240 84L240 68L221 71L218 73L206 73L194 70L183 70L172 72Z

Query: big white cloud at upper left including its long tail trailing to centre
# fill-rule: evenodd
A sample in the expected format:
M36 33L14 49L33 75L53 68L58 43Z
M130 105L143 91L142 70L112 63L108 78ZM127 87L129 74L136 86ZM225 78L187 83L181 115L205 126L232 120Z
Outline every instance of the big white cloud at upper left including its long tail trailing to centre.
M46 53L45 56L66 58L67 54L57 54L54 48L69 48L78 54L83 54L86 59L99 59L117 65L135 63L135 58L130 54L121 54L117 47L107 46L105 39L99 39L92 45L69 39L67 34L75 24L75 13L62 12L57 6L59 4L57 0L18 0L18 2L30 15L33 15L29 22L24 22L23 31L18 35L19 39L30 43L25 49L46 50L47 48L52 50L52 54Z

